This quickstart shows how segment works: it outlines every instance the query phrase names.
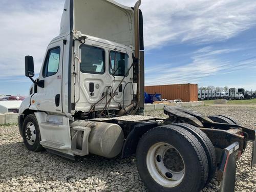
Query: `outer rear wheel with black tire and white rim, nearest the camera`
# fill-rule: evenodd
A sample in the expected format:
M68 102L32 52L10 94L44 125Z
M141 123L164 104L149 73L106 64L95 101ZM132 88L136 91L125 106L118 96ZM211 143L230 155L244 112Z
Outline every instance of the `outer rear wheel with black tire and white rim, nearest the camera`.
M138 143L136 159L149 191L195 192L207 181L208 161L201 143L178 126L158 126L146 132Z

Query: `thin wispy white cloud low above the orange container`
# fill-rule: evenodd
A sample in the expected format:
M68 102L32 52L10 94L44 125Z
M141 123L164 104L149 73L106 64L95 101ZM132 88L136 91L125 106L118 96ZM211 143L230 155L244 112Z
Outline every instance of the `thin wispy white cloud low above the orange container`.
M158 68L153 67L145 70L146 85L188 82L205 83L205 80L214 82L214 75L232 73L244 68L252 68L256 63L256 57L251 57L237 63L231 63L228 60L224 61L219 58L222 54L232 53L239 50L240 49L236 48L215 50L212 47L204 47L191 55L193 61L187 65L173 67L172 63L164 63L163 65L158 64Z

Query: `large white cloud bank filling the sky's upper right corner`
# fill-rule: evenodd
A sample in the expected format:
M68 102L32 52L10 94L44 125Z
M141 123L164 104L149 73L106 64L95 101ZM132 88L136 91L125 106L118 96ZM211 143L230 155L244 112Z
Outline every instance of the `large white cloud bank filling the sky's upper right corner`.
M117 1L129 6L136 2ZM170 42L225 40L256 22L256 1L252 0L147 0L141 9L147 49Z

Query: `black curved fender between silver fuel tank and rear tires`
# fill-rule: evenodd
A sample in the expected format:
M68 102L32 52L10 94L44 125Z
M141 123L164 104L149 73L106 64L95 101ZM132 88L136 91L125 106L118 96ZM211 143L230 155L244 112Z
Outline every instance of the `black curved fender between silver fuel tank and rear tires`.
M121 158L125 159L135 154L137 144L140 138L144 135L144 133L146 133L148 130L156 126L158 126L158 122L150 122L135 125L134 129L129 133L129 135L125 139Z

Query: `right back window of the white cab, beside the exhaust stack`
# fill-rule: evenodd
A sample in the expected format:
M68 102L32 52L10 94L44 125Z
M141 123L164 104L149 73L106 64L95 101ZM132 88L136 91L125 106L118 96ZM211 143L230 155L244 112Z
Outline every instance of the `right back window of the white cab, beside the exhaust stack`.
M115 54L116 53L116 54ZM127 76L129 69L129 56L125 53L110 51L111 63L110 63L110 74L115 76ZM116 58L116 62L115 62ZM126 74L127 73L127 74Z

